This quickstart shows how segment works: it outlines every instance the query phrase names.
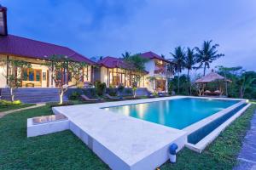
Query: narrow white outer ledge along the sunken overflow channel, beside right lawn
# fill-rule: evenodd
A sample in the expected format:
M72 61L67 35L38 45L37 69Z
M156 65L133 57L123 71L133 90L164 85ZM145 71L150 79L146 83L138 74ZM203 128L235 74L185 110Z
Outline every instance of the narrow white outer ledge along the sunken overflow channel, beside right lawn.
M214 139L218 137L218 134L224 131L226 127L230 125L231 122L234 122L237 117L241 116L241 114L247 110L247 108L251 104L245 105L240 111L237 111L235 115L231 116L227 121L222 123L220 126L215 128L212 133L209 133L205 138L201 139L197 144L186 143L185 146L190 150L194 150L196 152L201 153L208 144L211 144ZM234 109L234 108L233 108Z

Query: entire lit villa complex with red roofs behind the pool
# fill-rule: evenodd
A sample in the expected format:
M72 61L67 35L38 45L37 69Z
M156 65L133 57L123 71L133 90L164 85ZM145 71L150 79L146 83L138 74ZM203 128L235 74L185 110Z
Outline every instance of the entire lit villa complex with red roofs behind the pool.
M7 26L7 8L0 5L0 60L5 60L5 62L0 62L0 96L3 97L3 91L5 93L5 97L2 99L8 99L9 96L7 89L9 80L6 77L9 77L12 66L9 61L15 59L24 60L32 65L29 69L23 69L20 75L16 74L16 77L22 79L19 89L23 93L20 92L20 96L29 93L31 88L33 88L33 92L38 88L38 94L34 93L33 97L31 94L29 96L30 98L39 98L42 88L44 88L45 96L53 98L58 93L57 89L54 91L55 94L52 93L54 88L57 88L53 78L55 74L61 74L59 81L75 85L77 80L71 78L72 72L63 69L61 73L56 73L45 65L52 55L62 55L74 62L87 64L80 69L79 75L79 86L84 86L84 88L86 88L86 84L93 84L96 81L105 82L108 87L117 87L122 84L127 88L131 88L134 82L137 82L138 88L148 88L152 92L166 92L167 80L173 75L172 71L167 69L168 65L173 63L153 52L140 54L141 57L148 59L148 62L145 65L145 71L137 72L133 65L127 64L123 59L108 56L96 63L67 47L10 35ZM148 77L154 77L154 82L150 82ZM46 88L49 89L46 90ZM45 96L41 96L44 101L47 100ZM43 99L39 99L39 101L43 101Z

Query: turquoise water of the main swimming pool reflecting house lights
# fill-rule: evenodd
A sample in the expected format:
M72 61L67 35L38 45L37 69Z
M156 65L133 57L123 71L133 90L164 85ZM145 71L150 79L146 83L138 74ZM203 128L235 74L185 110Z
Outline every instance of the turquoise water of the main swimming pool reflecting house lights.
M237 102L236 100L183 98L102 109L167 127L183 129Z

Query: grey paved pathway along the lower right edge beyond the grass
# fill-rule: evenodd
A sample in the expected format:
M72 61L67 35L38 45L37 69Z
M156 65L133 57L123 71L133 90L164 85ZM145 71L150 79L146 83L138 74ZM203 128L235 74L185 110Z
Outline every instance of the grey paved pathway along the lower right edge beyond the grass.
M237 159L240 164L234 170L256 170L256 111Z

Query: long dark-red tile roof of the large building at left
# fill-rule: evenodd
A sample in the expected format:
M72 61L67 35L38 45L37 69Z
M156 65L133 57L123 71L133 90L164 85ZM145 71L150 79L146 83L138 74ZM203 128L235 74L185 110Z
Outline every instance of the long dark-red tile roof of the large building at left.
M69 59L73 59L74 61L86 62L90 65L96 64L70 48L13 35L0 37L0 54L34 59L47 59L54 54L66 55Z

